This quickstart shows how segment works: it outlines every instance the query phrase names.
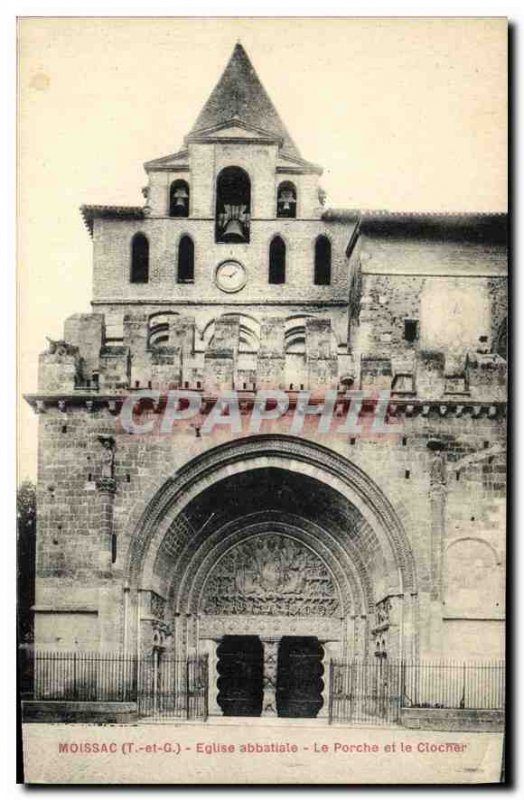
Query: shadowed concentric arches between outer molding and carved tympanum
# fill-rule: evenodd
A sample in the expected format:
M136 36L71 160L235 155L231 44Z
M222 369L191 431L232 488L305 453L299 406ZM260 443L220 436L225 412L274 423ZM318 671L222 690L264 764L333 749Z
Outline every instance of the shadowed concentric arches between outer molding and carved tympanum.
M275 468L214 484L174 520L155 561L162 594L177 612L201 612L202 590L217 560L238 542L264 534L292 537L316 553L342 592L339 613L373 607L386 560L371 526L327 484Z

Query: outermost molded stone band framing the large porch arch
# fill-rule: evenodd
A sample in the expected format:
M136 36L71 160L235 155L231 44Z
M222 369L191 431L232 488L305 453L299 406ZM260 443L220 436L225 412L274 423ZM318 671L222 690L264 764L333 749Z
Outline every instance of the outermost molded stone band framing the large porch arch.
M261 435L212 448L167 479L135 527L127 561L131 586L152 585L156 553L174 517L205 488L252 469L275 467L309 475L357 507L381 542L397 591L416 591L414 558L394 508L355 464L326 447L291 436ZM396 574L395 574L396 573Z

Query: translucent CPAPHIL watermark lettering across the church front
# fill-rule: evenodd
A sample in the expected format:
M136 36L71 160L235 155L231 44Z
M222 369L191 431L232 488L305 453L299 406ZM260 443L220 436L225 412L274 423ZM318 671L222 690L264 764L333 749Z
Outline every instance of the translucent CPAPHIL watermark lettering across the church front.
M292 435L300 435L306 428L318 434L355 437L398 436L401 432L389 390L341 394L329 389L319 395L308 390L260 389L246 396L231 389L204 396L189 389L140 389L124 399L119 421L124 432L135 436L170 435L188 424L199 436L218 430L257 434L277 422Z

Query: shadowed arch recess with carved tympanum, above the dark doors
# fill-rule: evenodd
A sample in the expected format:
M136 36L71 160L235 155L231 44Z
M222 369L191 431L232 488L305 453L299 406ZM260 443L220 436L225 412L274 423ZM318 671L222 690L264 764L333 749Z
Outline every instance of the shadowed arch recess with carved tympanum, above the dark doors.
M343 640L349 617L374 612L391 563L347 498L315 478L268 467L198 494L173 520L153 574L168 617L184 629L178 646L197 647L219 632L276 629L331 631Z

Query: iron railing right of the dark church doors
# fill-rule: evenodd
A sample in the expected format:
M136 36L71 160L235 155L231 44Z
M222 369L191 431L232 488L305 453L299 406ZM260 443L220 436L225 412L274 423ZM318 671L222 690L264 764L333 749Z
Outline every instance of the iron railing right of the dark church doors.
M329 720L384 725L402 708L489 709L505 706L505 663L371 662L329 665Z

